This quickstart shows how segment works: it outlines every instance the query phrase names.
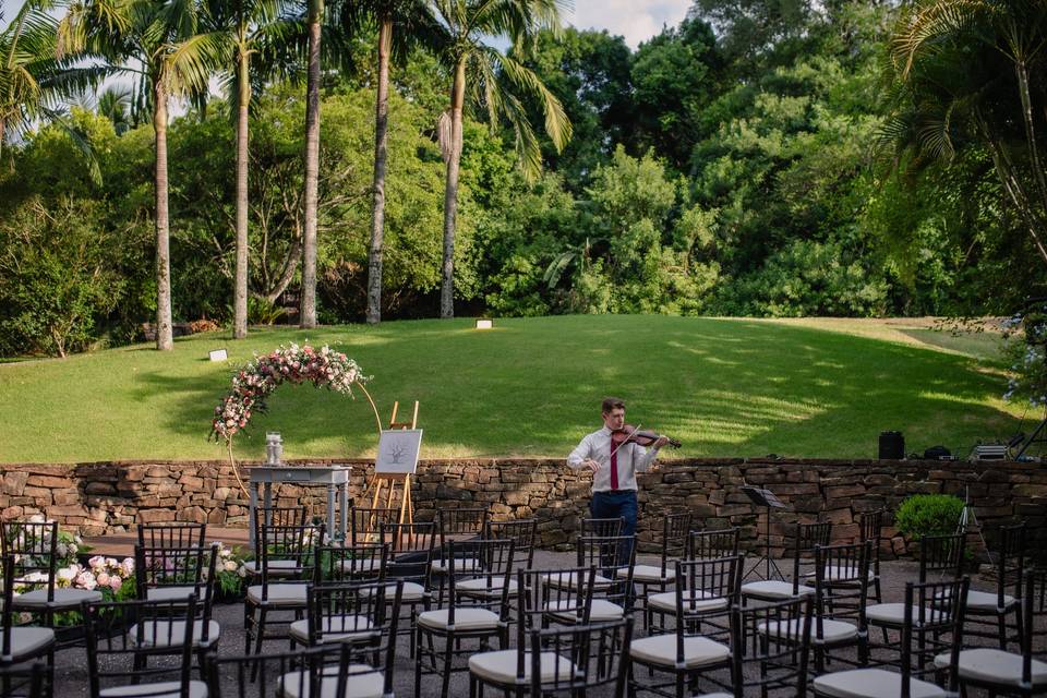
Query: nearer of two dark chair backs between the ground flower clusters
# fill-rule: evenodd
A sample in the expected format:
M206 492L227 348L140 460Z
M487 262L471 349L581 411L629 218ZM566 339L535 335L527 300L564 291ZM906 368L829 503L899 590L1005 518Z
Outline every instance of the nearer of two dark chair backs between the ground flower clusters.
M184 602L196 598L201 638L208 639L215 595L218 543L191 547L134 546L135 590L140 600Z

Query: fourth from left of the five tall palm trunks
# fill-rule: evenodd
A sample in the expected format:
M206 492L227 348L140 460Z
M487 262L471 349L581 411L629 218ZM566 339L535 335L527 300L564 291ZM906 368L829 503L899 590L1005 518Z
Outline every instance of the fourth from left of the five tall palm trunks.
M385 237L385 169L388 157L389 48L393 21L383 17L378 29L378 95L374 106L374 208L371 253L368 256L368 322L382 322L382 254Z

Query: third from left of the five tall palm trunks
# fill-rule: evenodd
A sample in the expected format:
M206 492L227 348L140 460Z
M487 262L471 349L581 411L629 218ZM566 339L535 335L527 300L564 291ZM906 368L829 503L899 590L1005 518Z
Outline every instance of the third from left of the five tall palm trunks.
M309 79L305 103L305 231L299 326L316 326L316 209L320 188L320 20L323 0L309 0Z

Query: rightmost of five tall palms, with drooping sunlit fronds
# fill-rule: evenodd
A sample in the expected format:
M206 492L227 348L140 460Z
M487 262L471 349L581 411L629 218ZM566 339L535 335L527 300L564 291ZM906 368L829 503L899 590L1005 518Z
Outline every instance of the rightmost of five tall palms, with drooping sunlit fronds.
M557 151L570 140L570 122L559 100L531 70L486 44L508 38L514 53L527 56L538 33L559 29L559 0L432 0L444 29L441 58L452 71L450 107L441 116L440 142L447 164L444 192L444 263L440 292L441 317L455 315L455 226L458 209L458 171L461 161L461 122L466 89L471 101L485 108L494 125L507 118L516 135L516 151L525 173L537 174L541 149L528 120L527 107L517 96L522 91L534 98L545 117L545 132Z

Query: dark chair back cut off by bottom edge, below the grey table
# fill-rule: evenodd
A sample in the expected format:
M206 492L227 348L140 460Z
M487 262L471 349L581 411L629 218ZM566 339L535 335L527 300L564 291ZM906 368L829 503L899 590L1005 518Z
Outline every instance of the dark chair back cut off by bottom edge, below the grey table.
M384 677L382 695L393 695L393 654L384 641L377 651L333 642L292 652L204 659L208 698L346 696L350 686L376 671Z

